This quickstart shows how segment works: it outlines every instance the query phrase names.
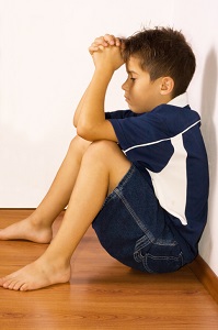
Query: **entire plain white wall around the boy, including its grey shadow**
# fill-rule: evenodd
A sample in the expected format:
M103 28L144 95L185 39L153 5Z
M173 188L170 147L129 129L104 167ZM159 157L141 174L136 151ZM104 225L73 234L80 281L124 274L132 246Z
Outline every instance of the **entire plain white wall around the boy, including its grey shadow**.
M203 119L210 166L200 255L218 275L216 0L0 0L0 207L36 207L74 135L73 109L92 74L88 46L104 33L174 25L197 57L190 100ZM126 107L115 75L107 109Z

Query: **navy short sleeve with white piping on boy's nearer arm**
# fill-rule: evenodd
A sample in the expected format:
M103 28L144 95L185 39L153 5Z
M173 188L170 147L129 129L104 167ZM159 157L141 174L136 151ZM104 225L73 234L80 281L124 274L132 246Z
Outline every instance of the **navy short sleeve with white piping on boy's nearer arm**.
M124 119L110 119L118 143L133 163L161 170L173 154L170 132L161 118L149 113ZM164 143L160 143L164 142Z

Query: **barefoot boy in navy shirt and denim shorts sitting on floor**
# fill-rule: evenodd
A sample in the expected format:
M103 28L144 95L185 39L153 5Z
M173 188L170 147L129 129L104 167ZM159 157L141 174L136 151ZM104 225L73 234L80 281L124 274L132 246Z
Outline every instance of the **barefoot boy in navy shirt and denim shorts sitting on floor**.
M102 245L127 266L174 272L193 261L206 223L208 165L199 116L185 91L195 56L184 36L157 28L127 40L106 34L90 47L95 70L73 118L77 136L33 215L1 240L51 240L34 263L0 279L32 290L70 278L70 257L92 223ZM130 110L104 113L107 86L126 63ZM123 151L122 151L123 150Z

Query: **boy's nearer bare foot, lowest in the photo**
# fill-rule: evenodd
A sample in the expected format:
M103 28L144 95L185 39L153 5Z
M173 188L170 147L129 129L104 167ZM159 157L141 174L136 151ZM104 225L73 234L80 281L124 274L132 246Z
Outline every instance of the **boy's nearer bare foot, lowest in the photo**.
M11 290L35 290L70 279L70 265L49 264L41 257L32 264L0 278L0 286Z

